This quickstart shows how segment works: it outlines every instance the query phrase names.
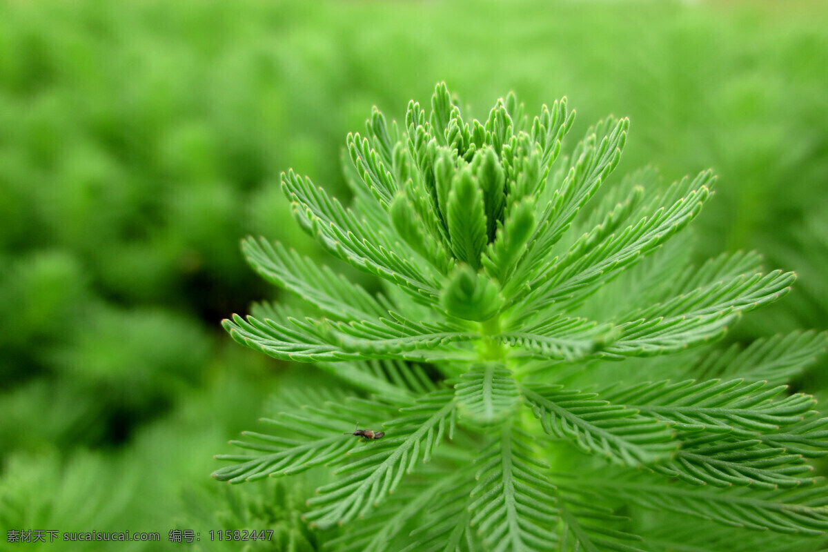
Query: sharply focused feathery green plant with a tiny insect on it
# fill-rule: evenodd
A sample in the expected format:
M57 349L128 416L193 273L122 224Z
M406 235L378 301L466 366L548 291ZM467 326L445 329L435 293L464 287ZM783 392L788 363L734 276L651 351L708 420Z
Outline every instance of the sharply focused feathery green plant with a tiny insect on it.
M246 433L235 444L253 453L219 456L233 464L215 478L336 466L304 518L347 526L339 550L820 545L804 537L828 529L828 490L807 460L826 454L828 419L780 384L826 335L704 347L795 276L760 273L753 253L689 264L681 231L710 199L710 171L662 187L640 170L587 212L628 121L599 122L559 158L573 118L563 99L529 119L509 94L465 122L439 84L430 114L409 103L400 127L374 109L366 137L349 135L350 209L283 175L301 226L385 286L243 243L320 316L257 305L224 327L358 392L299 390L306 406ZM385 436L343 435L354 422ZM664 530L676 523L686 530Z

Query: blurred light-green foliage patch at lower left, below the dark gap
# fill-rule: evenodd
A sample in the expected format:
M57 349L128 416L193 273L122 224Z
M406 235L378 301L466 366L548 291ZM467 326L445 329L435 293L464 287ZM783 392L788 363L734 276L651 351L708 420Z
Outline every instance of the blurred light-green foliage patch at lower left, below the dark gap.
M242 366L235 354L224 362ZM56 443L10 443L17 447L4 454L0 473L0 528L63 531L158 531L161 543L95 543L95 550L173 550L166 545L168 531L274 530L274 542L301 526L293 516L301 506L296 492L309 492L299 480L291 490L272 487L229 489L204 476L214 463L210 454L216 440L238 431L243 422L260 414L262 382L253 377L217 377L200 393L178 399L161 420L147 421L128 444L108 450L76 448L71 454ZM22 400L23 414L37 415ZM70 415L70 405L42 404L50 410L53 425L59 415ZM48 429L48 428L45 428ZM5 439L5 435L3 436ZM45 439L42 439L45 440ZM7 444L7 441L3 441ZM193 475L194 470L202 477ZM212 484L210 484L212 483ZM239 492L241 491L241 492ZM204 533L206 535L206 532ZM282 536L279 536L282 535ZM314 542L311 540L311 542ZM7 544L2 550L25 546L29 550L79 550L77 543ZM261 547L258 550L262 550ZM272 550L272 546L264 550ZM238 542L203 541L195 550L240 550ZM80 549L85 550L85 549ZM289 550L284 546L282 550ZM300 550L314 550L305 548Z

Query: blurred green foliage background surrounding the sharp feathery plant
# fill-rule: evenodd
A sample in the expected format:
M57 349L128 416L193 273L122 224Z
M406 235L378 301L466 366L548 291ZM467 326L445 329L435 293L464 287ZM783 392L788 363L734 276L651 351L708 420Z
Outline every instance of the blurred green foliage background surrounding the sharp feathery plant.
M171 548L239 550L206 531L275 528L282 548L318 545L286 507L301 480L209 478L272 392L315 373L221 331L278 298L238 242L320 256L279 173L347 198L346 133L440 80L476 118L510 89L529 113L566 94L570 146L628 116L620 174L712 166L697 257L756 248L800 276L731 339L826 329L826 28L821 0L0 2L0 549L11 529L193 529L200 544ZM828 398L825 367L802 386Z

